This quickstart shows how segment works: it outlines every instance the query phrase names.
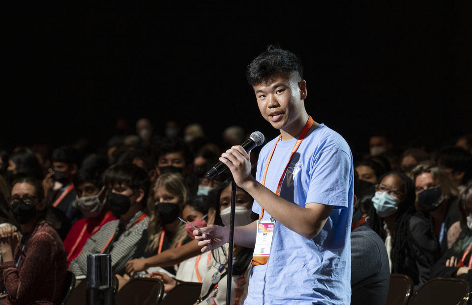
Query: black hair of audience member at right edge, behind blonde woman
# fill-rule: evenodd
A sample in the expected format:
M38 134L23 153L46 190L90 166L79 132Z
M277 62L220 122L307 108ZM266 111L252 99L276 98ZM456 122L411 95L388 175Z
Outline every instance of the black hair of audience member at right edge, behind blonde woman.
M462 147L445 147L438 157L438 164L450 167L455 172L465 172L462 184L469 182L472 178L472 154Z

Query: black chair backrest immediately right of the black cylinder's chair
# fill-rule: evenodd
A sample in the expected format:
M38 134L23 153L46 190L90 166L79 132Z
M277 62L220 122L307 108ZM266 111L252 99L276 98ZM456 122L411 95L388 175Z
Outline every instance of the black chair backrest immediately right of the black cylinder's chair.
M157 279L130 280L118 291L117 305L157 305L164 295L164 283Z

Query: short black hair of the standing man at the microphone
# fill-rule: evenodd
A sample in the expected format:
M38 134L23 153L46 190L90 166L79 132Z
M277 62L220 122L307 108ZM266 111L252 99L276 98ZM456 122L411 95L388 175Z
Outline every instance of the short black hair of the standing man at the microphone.
M291 51L269 45L267 51L261 53L247 66L247 82L254 87L260 83L267 83L274 76L283 72L298 72L300 78L303 79L303 66L300 58Z

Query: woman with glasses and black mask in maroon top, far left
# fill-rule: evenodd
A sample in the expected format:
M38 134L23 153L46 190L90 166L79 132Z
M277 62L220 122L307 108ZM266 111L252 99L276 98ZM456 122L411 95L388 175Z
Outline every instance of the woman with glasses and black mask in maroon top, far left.
M16 180L9 202L23 236L13 227L0 228L0 291L6 293L0 304L58 304L67 253L41 182L29 177Z

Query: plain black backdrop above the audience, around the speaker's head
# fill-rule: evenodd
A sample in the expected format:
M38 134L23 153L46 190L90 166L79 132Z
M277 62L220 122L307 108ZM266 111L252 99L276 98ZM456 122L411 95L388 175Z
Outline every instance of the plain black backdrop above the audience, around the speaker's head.
M308 113L357 154L377 130L429 149L472 131L470 1L309 3L20 4L4 23L0 145L98 147L118 117L272 138L245 78L270 43L301 57Z

